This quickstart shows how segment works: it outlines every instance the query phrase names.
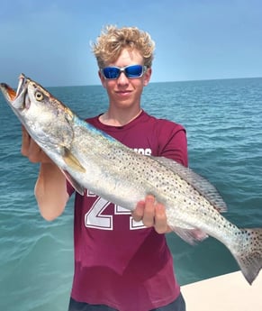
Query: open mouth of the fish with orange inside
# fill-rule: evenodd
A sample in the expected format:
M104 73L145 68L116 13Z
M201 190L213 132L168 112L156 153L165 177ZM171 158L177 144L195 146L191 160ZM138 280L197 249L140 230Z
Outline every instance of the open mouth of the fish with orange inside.
M16 109L23 110L30 106L30 100L27 96L27 87L30 79L26 78L23 73L19 76L18 87L15 90L9 87L6 83L1 83L0 88L7 102Z

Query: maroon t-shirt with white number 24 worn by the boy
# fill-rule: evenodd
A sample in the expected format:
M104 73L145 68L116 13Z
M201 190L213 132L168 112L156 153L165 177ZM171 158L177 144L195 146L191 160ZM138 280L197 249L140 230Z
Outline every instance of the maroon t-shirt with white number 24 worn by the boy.
M123 126L86 120L146 156L187 166L185 129L144 111ZM92 178L92 177L90 177ZM68 193L74 189L68 184ZM135 223L130 211L90 191L75 199L75 275L71 296L121 311L166 306L180 293L165 234Z

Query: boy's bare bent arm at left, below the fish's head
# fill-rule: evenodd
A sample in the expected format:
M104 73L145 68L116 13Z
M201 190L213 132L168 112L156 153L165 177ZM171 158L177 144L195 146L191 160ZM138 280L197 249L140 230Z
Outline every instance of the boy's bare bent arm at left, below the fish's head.
M41 163L35 197L46 220L54 220L63 213L68 202L67 181L54 163Z

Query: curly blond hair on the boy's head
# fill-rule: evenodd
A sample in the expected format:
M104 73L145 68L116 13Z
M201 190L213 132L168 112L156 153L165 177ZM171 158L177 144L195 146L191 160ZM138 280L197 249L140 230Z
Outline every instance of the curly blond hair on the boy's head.
M102 30L92 49L98 67L103 69L108 62L119 58L123 49L138 50L144 59L144 65L150 68L154 58L155 42L148 32L142 32L137 27L117 28L108 25Z

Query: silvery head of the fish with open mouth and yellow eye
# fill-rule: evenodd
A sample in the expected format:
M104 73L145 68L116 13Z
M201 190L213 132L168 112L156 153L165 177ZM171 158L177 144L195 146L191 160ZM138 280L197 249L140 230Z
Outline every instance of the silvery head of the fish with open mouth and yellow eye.
M5 83L1 83L0 89L14 114L44 151L70 148L74 114L68 107L23 74L16 92Z

